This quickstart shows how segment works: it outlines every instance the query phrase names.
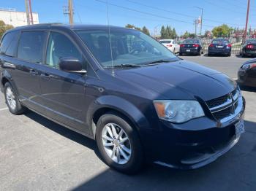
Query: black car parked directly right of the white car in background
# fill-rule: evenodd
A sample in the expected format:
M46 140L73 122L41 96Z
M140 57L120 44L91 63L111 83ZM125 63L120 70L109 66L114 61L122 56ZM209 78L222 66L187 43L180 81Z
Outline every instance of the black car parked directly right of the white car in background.
M180 44L179 55L201 55L203 46L200 39L186 39Z

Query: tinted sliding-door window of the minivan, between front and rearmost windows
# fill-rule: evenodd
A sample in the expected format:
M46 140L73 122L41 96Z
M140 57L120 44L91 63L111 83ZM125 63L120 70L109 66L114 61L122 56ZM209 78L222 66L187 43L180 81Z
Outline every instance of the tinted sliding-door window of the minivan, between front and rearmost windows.
M20 35L18 58L34 63L42 63L42 49L45 41L44 31L23 32Z

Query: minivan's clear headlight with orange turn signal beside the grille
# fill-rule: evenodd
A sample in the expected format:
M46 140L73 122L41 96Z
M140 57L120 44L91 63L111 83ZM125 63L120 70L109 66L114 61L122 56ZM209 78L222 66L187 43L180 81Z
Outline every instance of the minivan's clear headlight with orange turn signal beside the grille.
M154 101L158 117L170 122L187 122L205 114L198 101L163 100Z

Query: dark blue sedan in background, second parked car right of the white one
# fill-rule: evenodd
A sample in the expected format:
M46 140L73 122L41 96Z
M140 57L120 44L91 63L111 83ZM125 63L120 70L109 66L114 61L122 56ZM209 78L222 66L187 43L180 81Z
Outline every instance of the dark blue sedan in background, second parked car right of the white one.
M231 55L232 46L228 39L213 39L208 46L208 56L210 55Z

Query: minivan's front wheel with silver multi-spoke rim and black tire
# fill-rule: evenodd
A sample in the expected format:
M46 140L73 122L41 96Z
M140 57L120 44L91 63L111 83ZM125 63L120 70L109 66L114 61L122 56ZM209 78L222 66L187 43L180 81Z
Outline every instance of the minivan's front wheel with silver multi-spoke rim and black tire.
M138 132L115 113L97 122L96 141L104 162L124 174L135 174L143 166L143 148Z

